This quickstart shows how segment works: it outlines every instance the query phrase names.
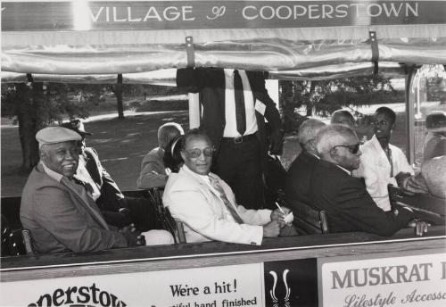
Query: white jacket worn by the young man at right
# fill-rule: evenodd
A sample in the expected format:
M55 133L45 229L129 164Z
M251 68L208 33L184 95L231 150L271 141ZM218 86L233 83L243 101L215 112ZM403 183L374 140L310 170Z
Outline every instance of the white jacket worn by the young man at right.
M393 176L399 172L409 172L414 174L414 170L410 167L406 155L400 148L389 144L392 152ZM368 194L373 197L375 203L384 210L391 210L389 201L389 193L387 185L392 184L397 187L394 177L391 177L391 165L383 148L379 144L376 136L373 136L366 144L360 147L362 155L360 156L360 164L358 170L353 170L354 177L364 178Z

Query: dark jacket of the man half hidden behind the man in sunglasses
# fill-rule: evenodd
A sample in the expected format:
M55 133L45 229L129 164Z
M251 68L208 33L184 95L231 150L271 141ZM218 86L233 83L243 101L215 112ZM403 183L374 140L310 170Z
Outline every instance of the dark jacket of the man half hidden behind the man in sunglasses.
M295 202L310 203L310 180L313 169L319 160L314 155L302 150L301 154L291 163L286 173L285 195L286 203L293 210Z

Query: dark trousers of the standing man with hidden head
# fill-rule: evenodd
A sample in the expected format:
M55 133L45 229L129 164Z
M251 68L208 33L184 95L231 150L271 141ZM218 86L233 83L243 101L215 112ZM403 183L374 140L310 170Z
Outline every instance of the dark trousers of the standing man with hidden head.
M260 142L257 137L236 144L223 138L212 170L232 188L237 204L264 207Z

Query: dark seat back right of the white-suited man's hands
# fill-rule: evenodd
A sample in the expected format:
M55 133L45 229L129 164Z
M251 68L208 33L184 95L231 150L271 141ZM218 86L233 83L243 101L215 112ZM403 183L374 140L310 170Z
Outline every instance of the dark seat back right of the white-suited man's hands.
M286 206L285 201L280 201ZM293 208L293 225L301 235L315 235L329 233L328 220L324 210L318 210L306 203L293 202L288 206Z

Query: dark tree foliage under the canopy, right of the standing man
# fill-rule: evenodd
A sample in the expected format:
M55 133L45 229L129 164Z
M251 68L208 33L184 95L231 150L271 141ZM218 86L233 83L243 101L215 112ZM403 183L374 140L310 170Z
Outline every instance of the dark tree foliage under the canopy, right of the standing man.
M280 104L285 131L296 131L305 117L296 109L306 108L306 117L328 115L348 105L377 104L401 98L384 76L332 80L280 81Z

